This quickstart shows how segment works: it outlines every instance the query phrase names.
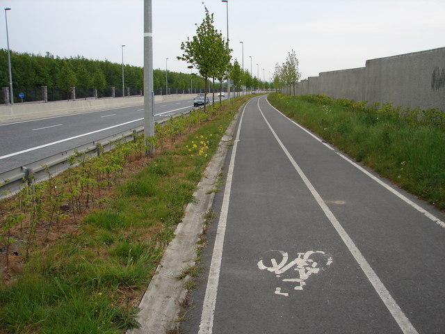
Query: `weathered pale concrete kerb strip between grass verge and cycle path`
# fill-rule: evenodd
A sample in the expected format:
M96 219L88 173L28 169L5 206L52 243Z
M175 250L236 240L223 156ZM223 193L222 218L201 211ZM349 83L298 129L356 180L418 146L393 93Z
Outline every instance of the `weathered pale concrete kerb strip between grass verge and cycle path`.
M140 328L127 331L127 334L165 334L177 326L180 304L187 294L184 283L189 279L186 277L179 280L177 277L184 269L195 264L195 249L199 241L198 235L203 228L203 216L213 205L215 193L211 190L215 188L218 174L223 168L238 116L239 112L227 128L216 154L204 171L204 176L197 185L197 191L193 193L196 202L187 205L186 214L176 228L175 239L165 250L161 264L140 301L137 319Z

